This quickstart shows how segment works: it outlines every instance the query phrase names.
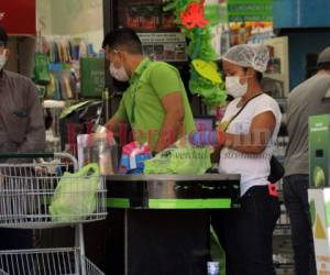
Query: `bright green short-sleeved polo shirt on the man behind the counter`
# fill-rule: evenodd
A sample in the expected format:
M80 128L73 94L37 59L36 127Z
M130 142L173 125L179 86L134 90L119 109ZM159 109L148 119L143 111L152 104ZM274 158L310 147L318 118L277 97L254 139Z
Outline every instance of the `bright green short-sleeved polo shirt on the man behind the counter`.
M195 122L178 70L164 62L142 61L130 79L116 116L128 121L134 140L148 142L151 148L160 141L160 132L165 119L161 99L172 92L180 92L185 108L185 119L177 139L195 131Z

